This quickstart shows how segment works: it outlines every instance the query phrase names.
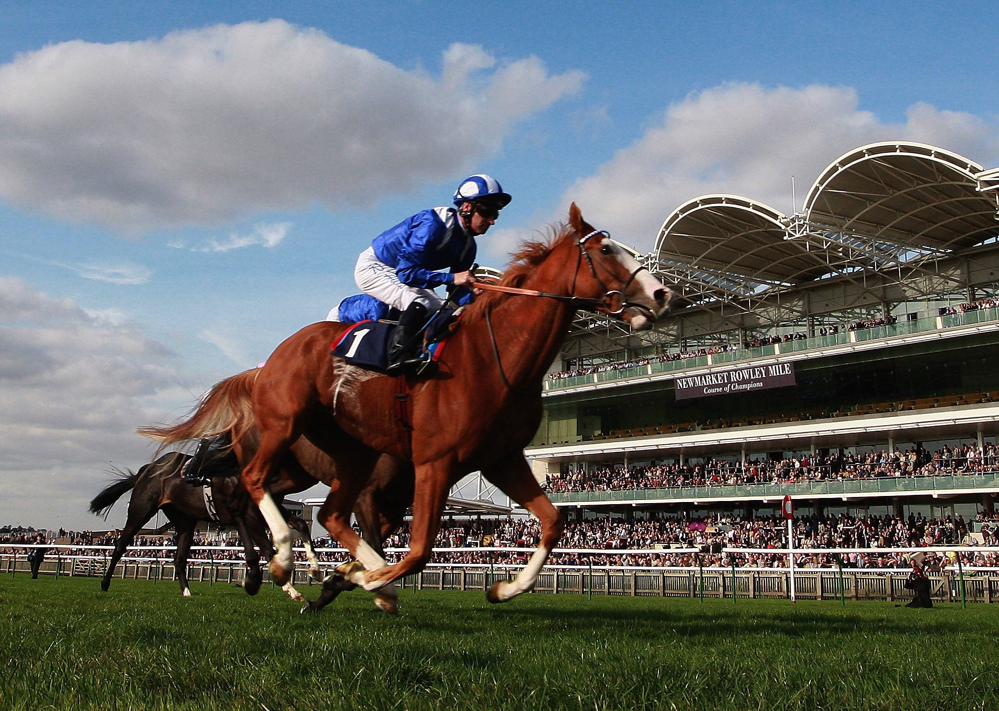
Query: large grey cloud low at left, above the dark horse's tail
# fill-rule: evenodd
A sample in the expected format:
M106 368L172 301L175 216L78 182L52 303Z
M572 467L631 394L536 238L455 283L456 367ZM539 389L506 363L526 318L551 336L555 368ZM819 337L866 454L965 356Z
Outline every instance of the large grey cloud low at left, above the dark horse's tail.
M101 525L87 502L112 463L148 460L135 427L167 419L158 398L178 379L171 352L136 325L0 277L3 522Z

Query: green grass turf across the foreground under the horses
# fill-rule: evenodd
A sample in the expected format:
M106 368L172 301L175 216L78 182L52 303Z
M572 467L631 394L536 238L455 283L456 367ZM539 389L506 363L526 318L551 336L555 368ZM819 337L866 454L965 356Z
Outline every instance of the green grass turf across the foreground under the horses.
M0 708L999 708L999 605L192 590L0 578Z

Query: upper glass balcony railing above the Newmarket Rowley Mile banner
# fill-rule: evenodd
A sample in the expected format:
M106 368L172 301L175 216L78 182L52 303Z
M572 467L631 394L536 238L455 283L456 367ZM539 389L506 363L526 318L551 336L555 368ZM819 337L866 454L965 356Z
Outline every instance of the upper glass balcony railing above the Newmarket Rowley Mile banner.
M659 372L675 372L691 367L702 367L704 365L717 365L728 362L741 362L752 360L768 355L797 353L801 351L813 351L816 349L843 346L851 343L863 343L876 341L879 339L890 339L897 336L909 334L919 334L940 329L952 329L961 326L974 326L976 324L986 324L999 321L999 307L993 309L981 309L978 311L966 312L964 314L954 314L943 316L939 319L919 319L916 321L905 321L891 326L878 326L871 329L861 329L859 331L844 331L838 334L826 336L815 336L808 339L788 341L783 344L772 346L762 346L751 349L739 349L738 351L728 351L720 354L698 355L696 357L681 358L679 360L666 360L665 362L650 362L647 365L635 365L619 369L603 370L591 372L584 375L570 375L568 377L551 378L544 381L545 390L557 390L563 387L575 387L595 382L609 382L613 380L625 380L629 377L639 375L650 375Z

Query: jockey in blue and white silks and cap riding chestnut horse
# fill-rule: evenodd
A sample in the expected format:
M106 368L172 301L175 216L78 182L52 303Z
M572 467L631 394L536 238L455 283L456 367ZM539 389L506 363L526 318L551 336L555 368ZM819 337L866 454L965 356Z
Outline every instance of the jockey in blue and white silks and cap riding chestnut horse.
M429 311L445 302L434 289L445 286L451 293L475 285L475 238L486 234L511 198L493 178L474 175L462 181L453 200L454 208L424 210L386 230L354 269L362 292L402 312L389 349L389 374L410 372L422 362L416 337ZM459 302L471 296L467 292Z

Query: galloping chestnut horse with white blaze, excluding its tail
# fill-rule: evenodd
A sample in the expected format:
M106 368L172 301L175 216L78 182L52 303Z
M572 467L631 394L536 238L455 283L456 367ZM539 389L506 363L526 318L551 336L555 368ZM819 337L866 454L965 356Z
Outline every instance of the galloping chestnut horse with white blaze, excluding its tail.
M501 286L532 290L532 299L487 294L467 308L461 328L439 358L433 377L390 377L330 355L347 326L313 324L268 358L253 388L256 454L243 482L274 536L271 574L291 575L291 531L268 490L300 436L326 452L334 474L319 521L360 561L350 579L368 590L427 564L448 491L480 470L536 516L541 541L512 581L494 585L493 602L529 590L562 530L555 507L534 479L523 448L541 418L541 385L575 311L587 306L619 317L632 329L650 328L672 293L610 240L569 209L568 225L548 244L523 246ZM379 457L391 454L415 467L411 548L388 565L353 530L352 509Z

